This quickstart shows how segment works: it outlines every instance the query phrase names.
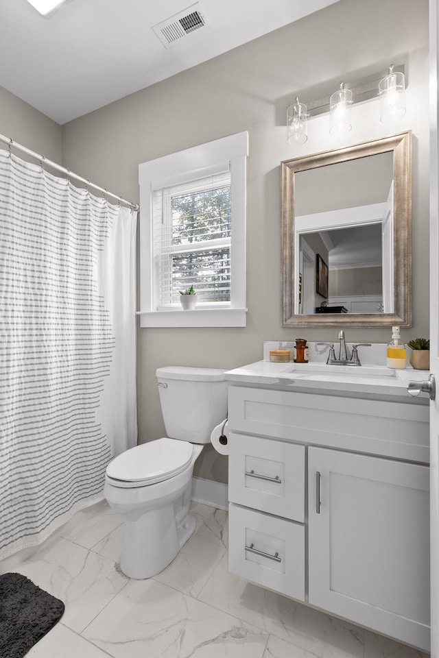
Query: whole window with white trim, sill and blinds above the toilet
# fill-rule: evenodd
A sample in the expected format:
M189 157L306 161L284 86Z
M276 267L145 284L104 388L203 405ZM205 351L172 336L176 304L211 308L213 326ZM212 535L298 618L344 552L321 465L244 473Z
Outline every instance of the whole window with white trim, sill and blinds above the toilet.
M247 154L244 132L140 165L141 326L246 326Z

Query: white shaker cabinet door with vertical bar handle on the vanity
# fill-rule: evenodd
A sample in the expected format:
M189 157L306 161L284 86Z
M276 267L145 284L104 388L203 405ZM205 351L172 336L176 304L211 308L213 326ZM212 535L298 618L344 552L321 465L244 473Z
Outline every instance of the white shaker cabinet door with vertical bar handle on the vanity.
M429 469L309 448L309 602L429 650Z

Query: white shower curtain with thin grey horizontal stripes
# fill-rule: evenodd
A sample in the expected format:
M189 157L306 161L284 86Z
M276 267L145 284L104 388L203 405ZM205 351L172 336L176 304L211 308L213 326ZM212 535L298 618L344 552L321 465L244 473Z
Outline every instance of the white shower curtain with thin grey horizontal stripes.
M137 443L137 213L0 151L0 559Z

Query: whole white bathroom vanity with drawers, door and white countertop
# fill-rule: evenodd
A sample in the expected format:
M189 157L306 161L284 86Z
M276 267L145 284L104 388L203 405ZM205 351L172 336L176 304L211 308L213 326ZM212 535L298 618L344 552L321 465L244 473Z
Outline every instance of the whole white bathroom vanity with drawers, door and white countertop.
M425 373L226 378L230 571L428 651L429 405L407 394Z

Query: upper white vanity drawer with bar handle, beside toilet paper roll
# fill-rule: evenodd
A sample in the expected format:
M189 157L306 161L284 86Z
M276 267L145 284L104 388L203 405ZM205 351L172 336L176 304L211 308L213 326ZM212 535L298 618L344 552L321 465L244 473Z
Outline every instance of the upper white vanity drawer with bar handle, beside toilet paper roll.
M305 447L230 432L228 498L276 516L305 520Z

